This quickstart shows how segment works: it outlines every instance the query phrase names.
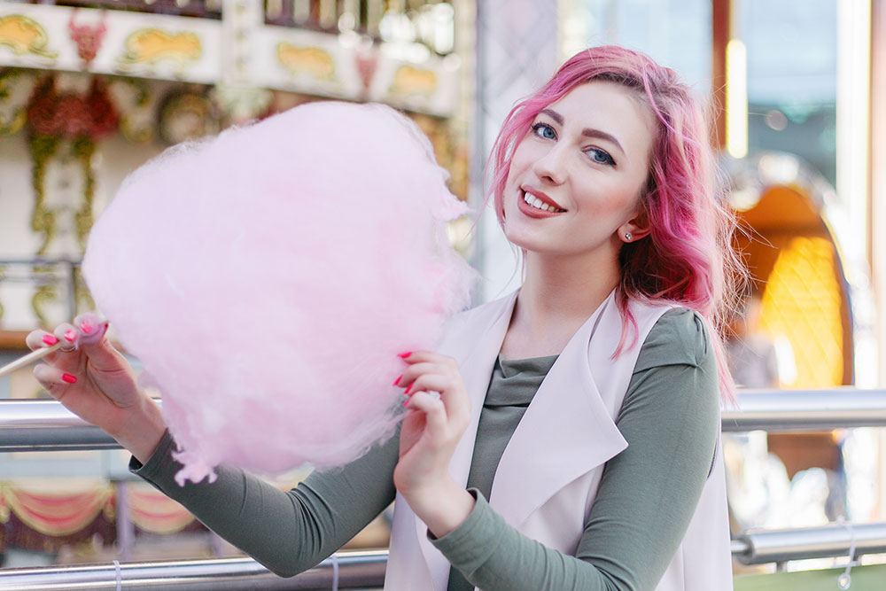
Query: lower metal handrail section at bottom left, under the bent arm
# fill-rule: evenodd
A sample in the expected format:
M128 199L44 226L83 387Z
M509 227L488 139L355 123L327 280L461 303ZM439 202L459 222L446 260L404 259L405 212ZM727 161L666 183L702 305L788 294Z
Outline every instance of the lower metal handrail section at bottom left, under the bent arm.
M0 591L50 589L339 589L381 588L387 551L342 552L291 579L278 577L252 558L216 558L175 562L103 563L0 569ZM118 582L120 586L118 586Z

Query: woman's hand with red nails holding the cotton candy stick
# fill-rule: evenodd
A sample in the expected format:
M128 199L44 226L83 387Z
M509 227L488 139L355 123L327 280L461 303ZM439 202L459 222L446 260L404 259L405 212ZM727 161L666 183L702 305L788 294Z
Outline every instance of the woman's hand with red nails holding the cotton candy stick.
M52 334L34 330L27 346L37 350L58 341L34 375L53 398L95 424L144 463L157 448L166 424L159 407L138 389L128 362L106 336L107 323L84 314L59 324Z

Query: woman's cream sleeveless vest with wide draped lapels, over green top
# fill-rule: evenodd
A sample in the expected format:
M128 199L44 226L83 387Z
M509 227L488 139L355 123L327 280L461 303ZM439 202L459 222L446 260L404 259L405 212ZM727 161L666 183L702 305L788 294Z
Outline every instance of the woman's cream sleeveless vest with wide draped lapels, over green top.
M465 484L489 377L517 292L462 313L438 350L459 362L471 423L449 472ZM641 344L670 307L632 302L638 344L616 359L621 315L610 294L563 348L501 455L491 506L509 525L574 556L603 464L627 447L615 420ZM718 446L719 449L719 446ZM552 462L551 458L556 458ZM427 527L397 494L385 591L445 591L450 565L427 539ZM732 567L726 482L718 453L686 536L656 591L730 591Z

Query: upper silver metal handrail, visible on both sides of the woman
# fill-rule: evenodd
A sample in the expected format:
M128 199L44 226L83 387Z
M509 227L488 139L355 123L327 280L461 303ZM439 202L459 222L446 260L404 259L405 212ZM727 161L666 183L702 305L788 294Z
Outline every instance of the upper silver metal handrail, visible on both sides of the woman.
M724 432L886 427L886 390L745 390L723 413ZM105 432L56 400L0 400L0 452L113 449Z

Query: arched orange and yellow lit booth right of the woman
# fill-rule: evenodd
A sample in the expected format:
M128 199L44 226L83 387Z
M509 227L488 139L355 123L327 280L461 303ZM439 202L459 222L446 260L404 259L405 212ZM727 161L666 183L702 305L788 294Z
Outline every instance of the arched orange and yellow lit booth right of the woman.
M750 269L753 338L766 339L775 376L752 387L833 388L857 384L857 340L870 300L852 282L854 261L842 247L841 209L830 185L797 157L768 152L727 163L731 204L742 231L737 246ZM853 307L854 306L854 307ZM748 337L751 338L751 337ZM739 373L741 373L739 371ZM769 434L768 451L788 480L821 468L828 473L829 519L846 515L841 441L836 432Z

